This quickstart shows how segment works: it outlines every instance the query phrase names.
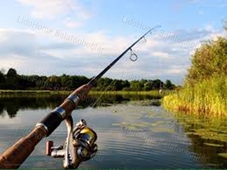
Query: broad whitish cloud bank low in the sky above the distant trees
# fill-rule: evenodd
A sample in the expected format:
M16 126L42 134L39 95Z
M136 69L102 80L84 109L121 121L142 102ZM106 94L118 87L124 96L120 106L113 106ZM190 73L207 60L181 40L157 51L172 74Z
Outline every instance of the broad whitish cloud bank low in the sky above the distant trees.
M199 44L201 40L223 36L224 32L210 29L178 30L174 35ZM61 38L39 36L31 30L0 29L0 66L14 67L22 74L80 74L92 77L99 73L123 50L135 41L132 36L111 36L105 31L80 33L87 43L102 46L102 52ZM123 79L171 79L181 83L190 66L195 47L156 34L147 37L133 50L138 60L132 62L126 54L105 76ZM128 76L125 76L128 75ZM130 75L130 76L129 76Z

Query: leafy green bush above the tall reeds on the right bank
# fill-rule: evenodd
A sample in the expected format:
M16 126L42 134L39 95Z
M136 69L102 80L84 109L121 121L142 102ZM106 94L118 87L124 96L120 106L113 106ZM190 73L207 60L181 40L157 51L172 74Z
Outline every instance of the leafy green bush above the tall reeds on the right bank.
M227 39L207 41L192 56L186 83L190 85L213 76L227 76Z

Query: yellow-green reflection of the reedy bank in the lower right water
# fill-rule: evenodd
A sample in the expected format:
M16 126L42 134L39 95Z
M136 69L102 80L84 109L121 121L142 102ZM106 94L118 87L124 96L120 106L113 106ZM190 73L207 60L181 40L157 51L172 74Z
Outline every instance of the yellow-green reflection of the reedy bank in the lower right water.
M227 167L227 157L220 156L220 153L227 155L227 120L185 113L176 113L174 117L191 140L189 150L200 157L202 164L213 168Z

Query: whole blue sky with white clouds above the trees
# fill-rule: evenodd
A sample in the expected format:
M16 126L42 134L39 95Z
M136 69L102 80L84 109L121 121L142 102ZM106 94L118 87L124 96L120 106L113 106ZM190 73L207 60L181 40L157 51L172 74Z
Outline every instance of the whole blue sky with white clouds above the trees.
M2 71L93 77L154 28L105 77L182 84L196 48L226 36L227 1L7 0L0 16Z

